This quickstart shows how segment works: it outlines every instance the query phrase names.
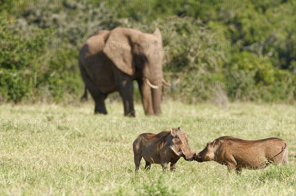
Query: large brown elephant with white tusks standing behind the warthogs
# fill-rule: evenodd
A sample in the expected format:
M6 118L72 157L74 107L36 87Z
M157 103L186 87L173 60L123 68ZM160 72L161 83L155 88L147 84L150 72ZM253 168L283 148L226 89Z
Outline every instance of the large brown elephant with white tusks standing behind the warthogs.
M133 81L136 80L146 115L161 114L163 79L161 32L142 33L117 27L91 36L79 51L79 69L95 101L95 114L107 114L105 99L118 91L125 116L135 116Z

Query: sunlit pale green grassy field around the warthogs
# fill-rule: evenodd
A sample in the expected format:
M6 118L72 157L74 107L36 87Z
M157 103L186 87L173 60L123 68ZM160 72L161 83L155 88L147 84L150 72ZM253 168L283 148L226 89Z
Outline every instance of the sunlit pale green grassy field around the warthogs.
M120 102L107 103L108 115L94 104L0 106L0 195L296 195L296 108L286 104L168 101L163 114L123 116ZM143 132L182 127L192 151L230 135L254 140L279 137L288 143L289 164L227 173L215 162L177 163L174 173L159 164L134 173L132 143Z

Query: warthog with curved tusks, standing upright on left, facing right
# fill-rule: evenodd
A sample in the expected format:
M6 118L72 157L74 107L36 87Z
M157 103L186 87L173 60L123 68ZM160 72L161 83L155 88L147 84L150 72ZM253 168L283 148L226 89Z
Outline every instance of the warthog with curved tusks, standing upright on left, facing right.
M171 162L173 171L181 157L186 161L193 161L195 153L190 150L187 142L187 135L180 127L158 134L140 134L133 143L135 171L139 169L142 157L146 161L145 169L150 169L151 163L157 163L161 164L163 170L167 170L167 165Z

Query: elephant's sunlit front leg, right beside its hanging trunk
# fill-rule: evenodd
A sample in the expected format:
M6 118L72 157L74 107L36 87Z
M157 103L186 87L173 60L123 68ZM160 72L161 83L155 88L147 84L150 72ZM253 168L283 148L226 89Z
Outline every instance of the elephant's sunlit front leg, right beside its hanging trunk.
M147 85L147 83L143 82L142 78L138 79L139 90L142 97L142 103L144 106L144 111L146 115L153 115L153 104L152 104L152 96L151 96L151 89Z

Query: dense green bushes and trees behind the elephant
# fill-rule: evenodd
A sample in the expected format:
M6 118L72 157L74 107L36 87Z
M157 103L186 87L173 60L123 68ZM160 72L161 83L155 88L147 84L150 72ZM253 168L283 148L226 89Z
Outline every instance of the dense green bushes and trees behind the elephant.
M296 1L0 1L2 101L72 101L98 30L162 32L167 97L295 100Z

